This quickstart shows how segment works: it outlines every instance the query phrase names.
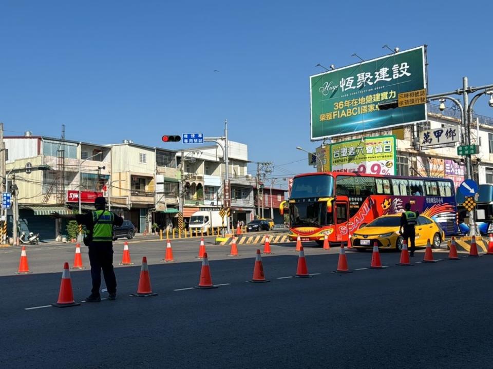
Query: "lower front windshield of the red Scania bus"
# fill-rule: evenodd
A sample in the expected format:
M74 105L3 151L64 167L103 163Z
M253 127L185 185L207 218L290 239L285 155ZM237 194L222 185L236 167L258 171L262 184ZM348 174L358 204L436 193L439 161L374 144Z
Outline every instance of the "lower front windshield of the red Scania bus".
M299 202L290 204L292 227L321 227L334 224L333 214L327 213L325 202Z

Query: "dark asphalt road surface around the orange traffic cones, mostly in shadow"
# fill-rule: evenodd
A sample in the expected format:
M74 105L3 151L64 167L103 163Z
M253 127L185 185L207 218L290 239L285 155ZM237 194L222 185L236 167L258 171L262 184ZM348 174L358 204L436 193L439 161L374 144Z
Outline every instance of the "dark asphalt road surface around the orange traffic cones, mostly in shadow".
M64 309L25 308L56 301L73 245L29 247L34 274L22 276L10 271L18 253L0 250L0 367L492 367L493 257L449 261L435 251L444 260L415 263L423 256L417 253L413 267L400 267L398 253L381 253L387 268L340 275L331 273L338 248L306 244L309 271L317 275L298 279L285 278L296 272L294 244L274 245L275 254L262 257L271 282L251 284L245 281L257 247L239 246L241 256L231 259L229 247L206 244L220 286L198 290L185 289L198 283L201 266L198 243L189 242L174 242L178 262L166 264L164 243L130 243L136 265L116 269L117 301ZM115 248L117 264L121 243ZM130 297L144 254L159 295ZM347 255L353 270L370 264L369 252ZM83 260L88 264L85 248ZM89 271L71 277L75 299L82 300Z

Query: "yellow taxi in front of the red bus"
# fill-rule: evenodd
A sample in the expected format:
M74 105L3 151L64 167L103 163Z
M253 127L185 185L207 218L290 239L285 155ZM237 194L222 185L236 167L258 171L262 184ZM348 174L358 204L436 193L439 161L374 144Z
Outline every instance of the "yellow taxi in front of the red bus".
M401 214L378 217L354 232L351 245L357 250L364 250L372 248L376 241L378 248L401 249L404 238L399 233L400 228ZM427 241L430 240L431 247L438 248L445 240L442 228L435 221L423 215L418 217L418 224L414 226L414 229L416 247L426 247Z

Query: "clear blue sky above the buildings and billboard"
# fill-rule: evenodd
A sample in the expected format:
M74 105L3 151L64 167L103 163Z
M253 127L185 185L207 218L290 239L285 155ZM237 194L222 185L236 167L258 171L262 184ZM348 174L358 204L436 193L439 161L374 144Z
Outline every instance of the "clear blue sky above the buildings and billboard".
M227 119L275 177L313 171L295 147L320 144L309 126L318 63L426 44L430 93L463 76L493 83L491 2L401 4L2 0L0 121L6 134L59 137L65 124L68 139L178 149L161 136L218 136ZM476 112L493 116L485 98Z

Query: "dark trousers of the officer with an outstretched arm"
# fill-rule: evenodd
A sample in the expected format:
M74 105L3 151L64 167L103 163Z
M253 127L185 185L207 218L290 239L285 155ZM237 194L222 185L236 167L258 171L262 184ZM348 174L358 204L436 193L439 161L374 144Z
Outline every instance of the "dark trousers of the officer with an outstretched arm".
M113 270L113 247L111 245L89 246L89 261L91 263L92 294L99 295L101 287L101 269L108 293L117 292L117 279Z

